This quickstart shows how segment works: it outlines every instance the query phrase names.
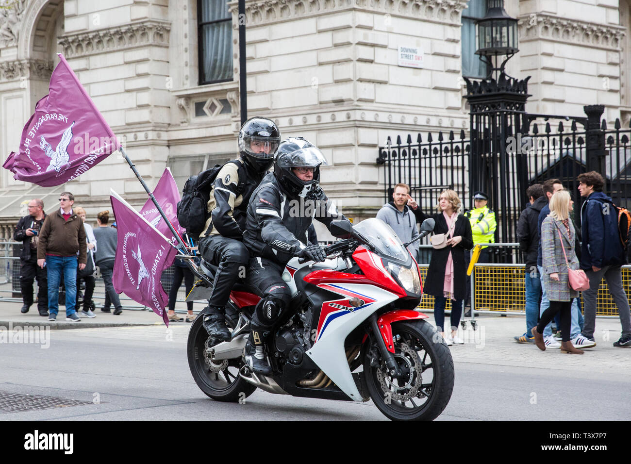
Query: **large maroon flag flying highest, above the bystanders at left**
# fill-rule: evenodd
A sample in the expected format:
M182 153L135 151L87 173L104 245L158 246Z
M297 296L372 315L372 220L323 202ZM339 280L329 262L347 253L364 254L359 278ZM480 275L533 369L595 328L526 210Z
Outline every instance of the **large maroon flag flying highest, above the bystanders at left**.
M42 187L79 177L121 146L66 59L59 59L49 94L24 126L19 152L3 165L14 179Z

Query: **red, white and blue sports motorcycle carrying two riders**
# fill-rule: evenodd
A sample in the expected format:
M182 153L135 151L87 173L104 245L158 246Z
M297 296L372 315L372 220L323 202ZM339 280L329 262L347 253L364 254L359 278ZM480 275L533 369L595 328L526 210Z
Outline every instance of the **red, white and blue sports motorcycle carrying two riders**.
M421 237L433 225L425 220ZM435 419L451 398L454 364L428 316L415 311L422 282L408 244L377 218L355 226L333 221L331 234L339 240L324 248L326 261L293 258L283 272L292 301L266 347L273 374L256 374L242 362L249 323L262 300L237 285L227 307L232 340L213 344L202 318L191 326L193 378L217 401L243 401L261 388L307 398L372 399L392 420ZM212 281L211 266L199 266ZM188 299L199 295L194 289Z

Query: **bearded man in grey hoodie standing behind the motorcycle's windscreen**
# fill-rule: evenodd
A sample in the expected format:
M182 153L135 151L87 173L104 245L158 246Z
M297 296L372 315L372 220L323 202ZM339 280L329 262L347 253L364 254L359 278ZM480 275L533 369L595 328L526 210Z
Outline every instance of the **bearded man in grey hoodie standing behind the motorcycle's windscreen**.
M390 203L384 205L377 213L377 219L382 220L392 227L399 239L403 243L407 243L418 237L418 229L416 229L416 217L408 208L408 198L410 198L410 187L407 184L396 184ZM418 241L408 246L408 251L414 259L418 254Z

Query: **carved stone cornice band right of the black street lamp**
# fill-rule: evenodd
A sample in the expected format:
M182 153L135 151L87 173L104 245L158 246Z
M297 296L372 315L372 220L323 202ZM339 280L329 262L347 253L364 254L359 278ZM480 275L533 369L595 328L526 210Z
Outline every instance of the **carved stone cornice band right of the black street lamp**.
M586 21L569 20L557 16L532 14L522 16L517 23L519 40L552 39L573 44L618 49L625 35L622 26L601 25Z

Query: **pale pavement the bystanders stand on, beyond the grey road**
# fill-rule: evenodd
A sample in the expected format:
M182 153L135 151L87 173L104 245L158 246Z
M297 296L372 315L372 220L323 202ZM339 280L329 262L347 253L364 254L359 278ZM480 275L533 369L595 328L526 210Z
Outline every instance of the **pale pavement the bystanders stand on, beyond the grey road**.
M26 314L20 312L22 304L0 299L0 330L9 328L9 323L16 326L49 326L51 330L88 329L124 326L160 326L164 323L160 316L150 310L123 310L119 316L112 313L95 312L96 318L81 318L80 322L66 322L65 309L57 316L60 321L49 322L39 315L33 305ZM186 311L177 310L182 317ZM620 320L617 318L596 318L594 338L596 347L585 350L584 355L562 355L558 349L542 352L534 344L522 344L513 340L513 336L522 335L526 330L526 318L523 315L479 313L476 317L477 329L466 324L466 330L459 328L459 335L464 345L452 345L454 362L471 364L492 364L494 366L535 367L539 369L558 369L563 371L584 371L619 373L631 375L631 348L614 347L613 342L621 335ZM433 324L433 314L428 314ZM469 321L470 318L466 318ZM182 322L173 322L169 328L190 326ZM177 329L180 331L180 329ZM187 331L182 327L181 330Z

